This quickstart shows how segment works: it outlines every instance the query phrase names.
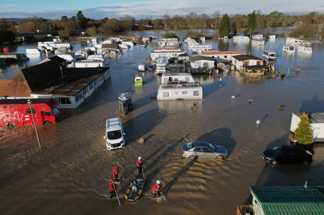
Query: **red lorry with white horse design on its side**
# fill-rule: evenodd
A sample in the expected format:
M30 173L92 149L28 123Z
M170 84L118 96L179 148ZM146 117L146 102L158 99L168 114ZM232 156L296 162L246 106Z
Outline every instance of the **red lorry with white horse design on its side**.
M34 124L32 112L35 124L56 123L61 119L57 105L54 98L0 99L0 126Z

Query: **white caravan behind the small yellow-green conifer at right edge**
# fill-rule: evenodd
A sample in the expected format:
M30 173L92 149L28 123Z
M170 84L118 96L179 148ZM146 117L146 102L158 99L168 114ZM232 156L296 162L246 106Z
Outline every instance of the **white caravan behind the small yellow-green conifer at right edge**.
M290 131L298 127L300 121L300 116L302 113L292 113ZM310 128L313 131L313 141L314 142L324 142L324 112L312 112L308 113L308 118L310 121Z

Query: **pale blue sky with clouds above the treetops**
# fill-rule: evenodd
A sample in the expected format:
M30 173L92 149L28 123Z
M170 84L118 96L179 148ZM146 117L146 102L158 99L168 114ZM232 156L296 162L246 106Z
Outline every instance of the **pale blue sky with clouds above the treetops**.
M187 15L196 12L211 16L215 11L248 14L260 10L261 14L279 11L286 14L324 13L322 0L0 0L0 18L27 18L38 16L61 19L81 10L87 18L119 18L128 14L136 20L161 18L163 14Z

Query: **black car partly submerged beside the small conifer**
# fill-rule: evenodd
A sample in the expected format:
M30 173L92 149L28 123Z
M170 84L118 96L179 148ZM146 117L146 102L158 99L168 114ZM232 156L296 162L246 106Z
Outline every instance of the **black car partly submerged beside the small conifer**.
M280 145L262 151L261 156L267 163L277 165L279 163L302 163L304 165L312 161L312 154L299 145Z

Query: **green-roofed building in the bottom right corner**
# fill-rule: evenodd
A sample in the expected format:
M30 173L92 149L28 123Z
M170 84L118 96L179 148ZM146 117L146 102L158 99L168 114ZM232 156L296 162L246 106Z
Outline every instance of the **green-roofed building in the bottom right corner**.
M324 186L250 186L252 204L237 205L237 215L324 214Z

